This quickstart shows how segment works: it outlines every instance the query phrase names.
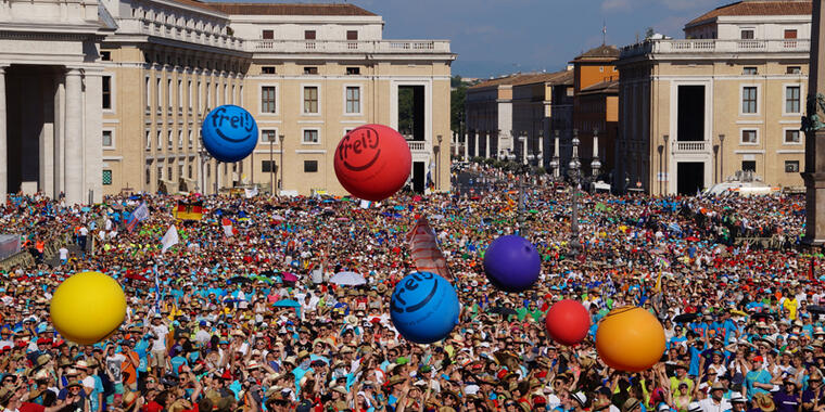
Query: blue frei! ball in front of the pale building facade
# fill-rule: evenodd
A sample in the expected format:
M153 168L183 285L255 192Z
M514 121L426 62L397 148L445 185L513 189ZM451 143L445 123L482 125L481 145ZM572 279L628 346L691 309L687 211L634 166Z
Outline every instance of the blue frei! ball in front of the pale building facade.
M243 107L231 104L215 107L203 119L203 146L218 162L242 160L255 150L257 124Z

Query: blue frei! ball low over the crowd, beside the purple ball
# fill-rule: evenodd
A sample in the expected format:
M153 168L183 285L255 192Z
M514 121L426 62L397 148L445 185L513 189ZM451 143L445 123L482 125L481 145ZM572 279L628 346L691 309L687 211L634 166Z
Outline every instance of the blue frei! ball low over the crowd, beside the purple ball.
M390 300L393 325L407 340L432 344L458 324L458 296L444 278L430 272L406 275Z

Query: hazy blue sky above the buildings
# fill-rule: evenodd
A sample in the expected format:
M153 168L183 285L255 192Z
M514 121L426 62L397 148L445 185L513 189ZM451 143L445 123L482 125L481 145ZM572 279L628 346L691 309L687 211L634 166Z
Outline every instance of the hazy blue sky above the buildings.
M249 1L249 0L248 0ZM318 2L318 1L315 1ZM582 51L626 46L647 27L684 38L682 27L720 0L350 0L383 16L385 39L448 39L453 74L488 77L559 70Z

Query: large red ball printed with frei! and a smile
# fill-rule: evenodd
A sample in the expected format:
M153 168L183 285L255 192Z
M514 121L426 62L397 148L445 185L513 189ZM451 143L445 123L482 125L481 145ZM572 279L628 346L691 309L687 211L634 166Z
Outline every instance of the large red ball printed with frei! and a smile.
M358 198L383 201L409 177L412 155L404 137L391 127L364 125L344 136L335 149L335 176Z

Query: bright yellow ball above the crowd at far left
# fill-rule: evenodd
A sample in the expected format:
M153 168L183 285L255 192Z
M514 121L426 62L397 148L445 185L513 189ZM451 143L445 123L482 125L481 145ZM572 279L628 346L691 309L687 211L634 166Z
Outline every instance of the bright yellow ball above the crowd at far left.
M126 318L126 295L103 273L77 273L54 291L50 313L54 329L64 338L92 345L120 326Z

